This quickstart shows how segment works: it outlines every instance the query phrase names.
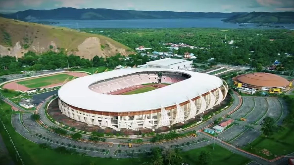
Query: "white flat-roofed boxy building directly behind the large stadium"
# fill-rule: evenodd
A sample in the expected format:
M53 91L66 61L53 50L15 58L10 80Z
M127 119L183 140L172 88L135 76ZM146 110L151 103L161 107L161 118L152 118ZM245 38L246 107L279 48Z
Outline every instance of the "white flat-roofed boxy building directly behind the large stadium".
M164 58L161 60L155 60L147 62L147 68L166 68L176 70L191 70L193 69L193 61L176 59L176 58Z

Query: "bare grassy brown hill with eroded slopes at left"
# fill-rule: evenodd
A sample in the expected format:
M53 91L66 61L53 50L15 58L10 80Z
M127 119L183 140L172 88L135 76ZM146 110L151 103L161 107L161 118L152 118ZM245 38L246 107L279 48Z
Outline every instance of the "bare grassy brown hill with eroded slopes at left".
M80 32L70 28L28 23L0 17L0 54L20 58L29 50L78 55L92 59L95 55L109 57L121 53L128 55L130 48L111 38Z

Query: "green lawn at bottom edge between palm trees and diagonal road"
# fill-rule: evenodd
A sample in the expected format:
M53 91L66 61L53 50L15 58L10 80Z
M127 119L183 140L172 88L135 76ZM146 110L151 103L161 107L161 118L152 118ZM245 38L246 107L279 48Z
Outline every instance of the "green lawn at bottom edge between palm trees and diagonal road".
M211 164L217 164L217 165L228 165L228 164L234 164L234 165L244 165L249 163L251 160L234 154L218 145L214 146L209 145L206 147L202 147L199 149L193 149L191 151L187 151L183 153L184 160L188 161L188 164L199 164L198 163L198 156L200 155L201 151L208 151L211 155Z

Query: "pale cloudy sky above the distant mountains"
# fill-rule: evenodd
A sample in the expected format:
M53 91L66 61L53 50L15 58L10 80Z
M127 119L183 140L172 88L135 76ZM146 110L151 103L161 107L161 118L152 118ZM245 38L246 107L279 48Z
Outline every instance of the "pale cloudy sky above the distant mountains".
M59 7L177 12L283 12L294 11L294 0L0 0L0 13Z

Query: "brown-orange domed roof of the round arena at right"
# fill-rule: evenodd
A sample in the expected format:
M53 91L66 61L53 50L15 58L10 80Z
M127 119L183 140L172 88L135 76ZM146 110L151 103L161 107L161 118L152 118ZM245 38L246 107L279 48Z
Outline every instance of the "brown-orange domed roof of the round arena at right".
M259 87L284 87L290 84L288 80L279 75L260 72L240 75L237 77L237 80L241 83Z

